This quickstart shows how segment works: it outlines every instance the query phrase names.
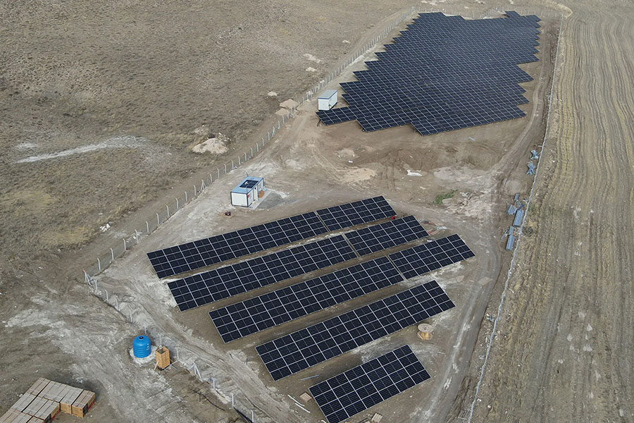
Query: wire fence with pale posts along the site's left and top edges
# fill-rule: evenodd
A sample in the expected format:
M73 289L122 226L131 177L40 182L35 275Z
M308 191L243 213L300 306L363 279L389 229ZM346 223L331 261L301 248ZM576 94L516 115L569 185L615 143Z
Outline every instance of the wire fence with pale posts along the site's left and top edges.
M483 13L478 13L475 11L457 11L449 8L414 8L412 6L409 8L409 11L402 13L396 20L394 20L390 25L385 27L378 35L373 37L373 39L366 44L363 45L360 49L354 51L352 54L347 55L345 59L340 62L340 65L337 66L335 71L332 71L325 75L325 77L313 85L308 91L304 92L301 97L297 99L293 99L296 103L292 108L288 111L285 116L281 116L278 118L278 121L273 123L271 126L271 130L268 130L266 135L261 137L261 140L256 142L252 147L247 147L244 150L243 154L238 154L234 159L230 159L226 161L224 164L218 166L215 170L211 171L208 176L201 178L200 183L196 183L192 185L192 190L184 190L182 195L175 197L174 202L168 202L165 204L165 207L161 207L161 209L157 210L153 216L149 216L145 221L145 226L141 228L141 231L135 229L135 233L133 235L128 235L127 237L121 238L121 240L111 245L104 251L103 254L97 257L97 262L92 266L84 270L84 279L85 283L89 286L89 291L95 295L100 300L106 302L106 304L110 305L117 312L123 315L126 321L130 322L130 324L135 324L137 326L143 327L144 332L154 338L154 340L158 340L159 345L165 345L171 352L175 353L175 361L174 364L180 364L182 367L185 367L189 373L195 376L200 381L206 382L210 384L211 389L218 395L218 397L223 400L225 403L231 403L232 407L239 410L247 410L247 415L251 414L252 420L254 422L269 422L271 418L264 415L261 410L259 410L256 405L251 403L249 398L240 391L240 388L232 388L232 392L223 391L222 386L233 385L230 379L220 379L214 376L213 372L213 364L209 362L209 360L205 360L204 358L199 357L197 353L195 353L190 348L187 348L186 345L175 341L173 338L166 336L159 329L154 329L151 325L148 324L148 321L151 321L151 315L144 311L143 307L139 307L135 305L134 302L130 301L130 295L122 295L114 292L108 292L104 286L99 286L99 281L94 276L97 276L102 271L104 271L108 266L110 266L115 259L121 257L125 254L130 248L134 247L144 236L147 236L154 231L156 231L162 223L165 223L171 216L173 216L178 210L185 207L186 204L192 202L195 198L197 198L201 192L203 192L206 188L213 185L216 180L219 180L223 176L226 176L228 173L233 171L236 168L247 163L247 161L256 157L265 147L268 145L268 142L271 142L275 135L282 129L282 125L285 125L288 121L290 121L297 114L297 109L299 109L302 104L305 102L309 102L313 99L320 90L323 89L326 85L328 85L332 80L335 80L337 76L339 76L344 70L348 68L352 63L358 61L361 57L365 56L369 50L371 50L375 44L387 37L387 35L394 30L397 25L402 23L407 18L411 18L414 14L417 13L430 13L430 12L441 12L450 15L460 15L465 18L487 18L490 16L499 16L500 13L503 13L498 8L491 9L490 11L486 11ZM537 14L539 13L530 13L529 11L523 10L518 11L523 15L526 14ZM542 15L545 14L542 12ZM555 13L549 15L552 17L559 17ZM218 376L216 374L216 376ZM307 411L308 412L308 411Z

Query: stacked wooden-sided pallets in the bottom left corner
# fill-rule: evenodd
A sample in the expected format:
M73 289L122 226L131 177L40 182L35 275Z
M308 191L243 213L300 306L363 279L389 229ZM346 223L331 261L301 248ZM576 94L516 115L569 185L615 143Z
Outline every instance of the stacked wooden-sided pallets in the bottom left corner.
M59 412L84 417L94 402L94 392L41 377L0 417L0 423L49 423Z

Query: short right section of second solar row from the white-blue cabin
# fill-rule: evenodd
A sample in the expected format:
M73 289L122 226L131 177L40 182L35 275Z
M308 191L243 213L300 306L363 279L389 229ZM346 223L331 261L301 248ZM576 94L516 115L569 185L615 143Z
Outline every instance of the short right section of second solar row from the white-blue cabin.
M425 238L428 233L421 226L421 223L414 219L414 216L405 216L402 219L346 233L345 236L354 250L363 256Z

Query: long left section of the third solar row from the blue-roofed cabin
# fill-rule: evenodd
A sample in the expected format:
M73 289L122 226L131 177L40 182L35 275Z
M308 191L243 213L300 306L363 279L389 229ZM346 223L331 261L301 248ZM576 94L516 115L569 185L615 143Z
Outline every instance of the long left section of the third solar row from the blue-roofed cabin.
M213 310L209 317L226 343L402 280L394 264L380 257Z

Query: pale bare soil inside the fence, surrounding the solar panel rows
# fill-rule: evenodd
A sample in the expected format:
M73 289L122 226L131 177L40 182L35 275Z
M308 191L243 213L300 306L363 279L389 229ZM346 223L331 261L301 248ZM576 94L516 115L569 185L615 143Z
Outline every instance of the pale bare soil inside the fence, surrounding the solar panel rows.
M545 34L551 30L546 26ZM196 360L205 379L213 376L218 385L215 394L219 398L226 402L233 394L241 406L254 410L258 421L318 422L321 413L314 404L307 405L311 414L306 415L293 405L287 395L297 398L317 380L402 343L414 345L421 357L426 357L425 365L435 378L432 383L411 391L409 396L394 398L371 411L378 410L397 420L435 421L447 415L473 350L476 332L472 328L480 324L488 295L502 267L504 253L498 237L508 222L500 219L508 218L500 212L506 199L517 190L528 192L530 185L531 179L524 174L525 160L528 151L535 148L535 140L540 140L543 135L541 116L545 110L545 93L552 69L549 60L552 44L549 39L545 37L542 47L545 60L526 66L526 70L537 77L526 84L526 95L532 100L525 106L527 118L420 137L411 128L405 127L363 133L354 123L332 127L317 125L316 105L314 102L306 104L297 118L280 131L280 135L261 155L230 173L228 178L219 180L189 207L175 214L144 240L141 247L131 250L104 272L99 277L99 285L112 296L110 303L116 302L124 314L132 313L133 319L147 326L155 339L164 335L169 337L170 342L178 344L181 362L189 364ZM362 66L362 63L356 64L342 75L341 80L351 78L352 70ZM273 193L256 211L233 209L233 216L228 219L223 215L226 209L231 209L227 204L227 192L244 176L244 172L265 176ZM447 190L456 190L456 195L445 200L445 204L433 204L435 197ZM406 283L409 286L435 278L460 305L433 319L437 329L432 343L418 341L416 330L412 327L316 366L310 372L319 374L319 379L301 381L302 377L313 374L304 372L274 384L259 362L254 345L404 287L368 295L367 298L223 345L206 314L215 305L187 313L176 312L165 281L156 278L144 257L145 252L166 245L377 194L385 195L399 214L414 214L418 219L430 220L437 226L448 228L437 236L460 233L468 240L478 259ZM315 274L305 277L311 276ZM296 281L287 281L275 288ZM115 294L117 300L113 300ZM219 305L244 297L246 295ZM28 327L24 321L25 313L29 311L22 313L12 321L11 328L16 333ZM67 348L64 341L55 342ZM81 360L78 351L75 352L75 360ZM151 379L151 372L145 376ZM112 405L118 407L116 411L125 415L125 410L120 409L122 400L117 395L122 386L112 380L113 376L103 377L111 383L104 384L102 395L109 403L116 404ZM174 394L180 395L178 388L175 388ZM171 401L178 398L172 396ZM421 403L423 398L425 400ZM144 398L135 398L135 401L149 407ZM178 415L161 416L166 421L180 418Z

